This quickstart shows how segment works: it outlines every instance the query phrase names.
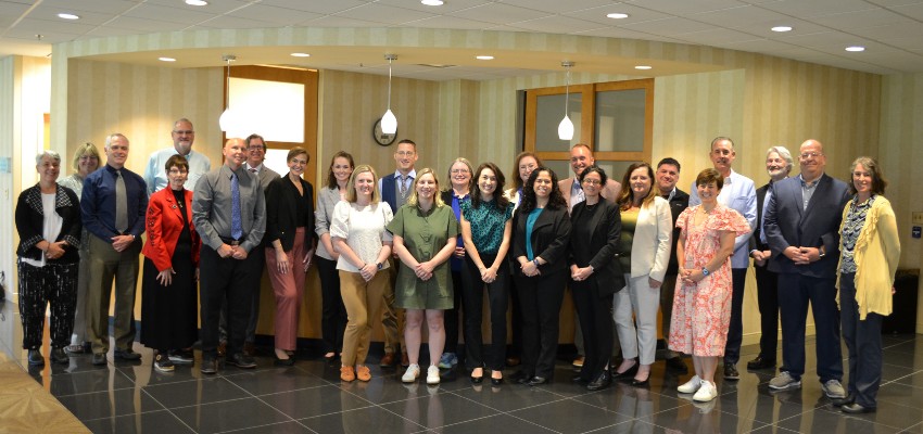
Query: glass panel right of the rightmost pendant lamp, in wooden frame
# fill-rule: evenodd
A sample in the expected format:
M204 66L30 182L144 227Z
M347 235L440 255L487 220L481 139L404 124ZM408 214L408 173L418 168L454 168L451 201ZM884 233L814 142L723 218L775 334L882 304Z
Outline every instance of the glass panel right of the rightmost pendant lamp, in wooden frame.
M643 151L645 90L596 92L596 150Z

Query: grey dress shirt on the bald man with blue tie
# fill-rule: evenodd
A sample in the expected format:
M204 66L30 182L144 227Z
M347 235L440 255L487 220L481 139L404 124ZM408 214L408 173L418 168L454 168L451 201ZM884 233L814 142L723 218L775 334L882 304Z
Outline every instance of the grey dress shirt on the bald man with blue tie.
M192 222L202 237L202 243L218 250L222 238L231 238L231 174L237 175L240 189L240 217L243 239L240 246L250 252L260 245L266 231L266 195L256 174L243 166L237 170L223 164L217 170L202 177L192 194Z

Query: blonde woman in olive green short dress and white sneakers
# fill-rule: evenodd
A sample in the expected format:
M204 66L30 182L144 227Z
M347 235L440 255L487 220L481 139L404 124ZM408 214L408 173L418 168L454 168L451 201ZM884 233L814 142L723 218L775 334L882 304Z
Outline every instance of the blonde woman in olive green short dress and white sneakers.
M439 178L432 169L417 171L410 197L397 209L388 230L401 259L394 304L406 309L404 341L410 366L401 380L413 383L420 375L420 327L426 312L430 353L427 384L439 384L438 363L445 345L443 314L453 306L448 257L455 252L458 220L442 202Z

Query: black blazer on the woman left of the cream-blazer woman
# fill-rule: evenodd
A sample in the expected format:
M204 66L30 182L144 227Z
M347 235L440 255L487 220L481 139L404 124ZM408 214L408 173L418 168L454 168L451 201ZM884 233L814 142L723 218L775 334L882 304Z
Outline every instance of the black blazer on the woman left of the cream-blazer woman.
M619 207L609 201L599 201L597 206L605 209L595 213L591 218L584 218L586 203L573 206L570 214L571 227L586 226L592 229L589 240L570 238L571 264L578 267L593 266L591 275L592 289L597 298L612 295L625 286L622 266L617 260L619 255L619 238L622 231L622 219ZM576 261L576 256L590 257L589 263Z

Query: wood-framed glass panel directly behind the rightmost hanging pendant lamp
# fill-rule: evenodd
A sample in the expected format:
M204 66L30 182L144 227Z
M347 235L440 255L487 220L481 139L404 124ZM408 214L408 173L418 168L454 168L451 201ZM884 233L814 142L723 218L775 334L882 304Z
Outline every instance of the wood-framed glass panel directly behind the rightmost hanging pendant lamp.
M535 103L535 150L542 151L570 151L570 146L580 143L580 93L571 93L568 111L570 120L573 123L573 138L571 140L558 139L558 125L564 119L565 94L539 95Z

